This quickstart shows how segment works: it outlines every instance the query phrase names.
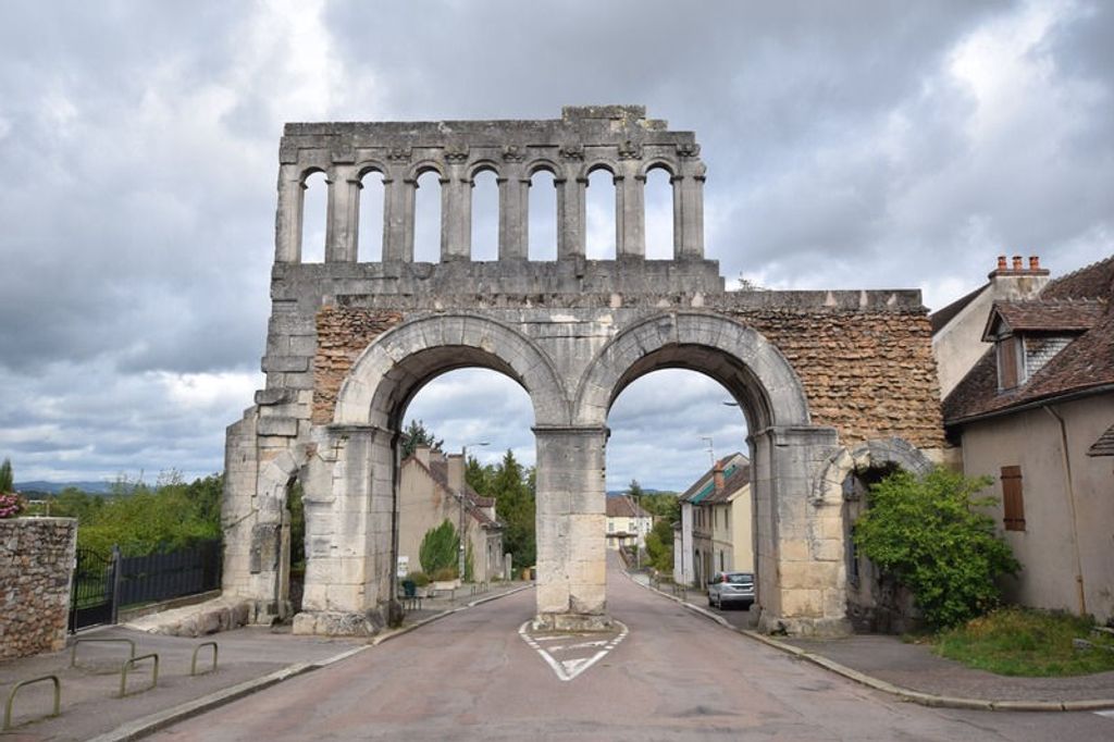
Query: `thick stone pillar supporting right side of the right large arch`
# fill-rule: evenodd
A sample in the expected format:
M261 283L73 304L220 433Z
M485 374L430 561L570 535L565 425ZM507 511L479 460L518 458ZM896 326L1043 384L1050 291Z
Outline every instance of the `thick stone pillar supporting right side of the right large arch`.
M846 634L847 588L842 554L813 548L818 518L814 481L838 447L836 430L766 428L751 436L761 479L753 481L759 626L797 635ZM823 528L842 528L837 518Z

